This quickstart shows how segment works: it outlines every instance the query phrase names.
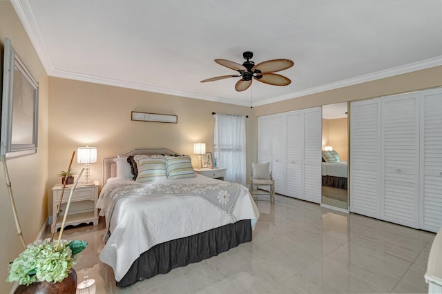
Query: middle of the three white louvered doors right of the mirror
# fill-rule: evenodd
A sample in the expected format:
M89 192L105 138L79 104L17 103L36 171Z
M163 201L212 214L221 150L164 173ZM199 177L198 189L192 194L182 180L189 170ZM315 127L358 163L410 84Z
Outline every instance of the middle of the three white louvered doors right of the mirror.
M419 227L417 92L382 99L381 219Z

